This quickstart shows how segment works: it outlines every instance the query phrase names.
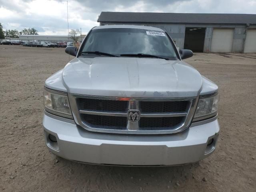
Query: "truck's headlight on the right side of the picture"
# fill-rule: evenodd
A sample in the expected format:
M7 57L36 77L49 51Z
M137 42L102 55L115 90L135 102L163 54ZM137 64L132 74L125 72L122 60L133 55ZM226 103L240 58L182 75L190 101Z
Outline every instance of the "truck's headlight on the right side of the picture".
M218 102L218 94L214 96L201 96L198 100L194 120L197 120L196 118L208 118L210 115L216 114L218 111Z

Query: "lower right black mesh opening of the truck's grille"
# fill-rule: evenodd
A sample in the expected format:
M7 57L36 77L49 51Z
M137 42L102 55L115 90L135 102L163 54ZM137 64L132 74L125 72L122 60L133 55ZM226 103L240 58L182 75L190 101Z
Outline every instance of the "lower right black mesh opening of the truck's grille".
M140 128L170 128L182 123L184 117L140 118Z

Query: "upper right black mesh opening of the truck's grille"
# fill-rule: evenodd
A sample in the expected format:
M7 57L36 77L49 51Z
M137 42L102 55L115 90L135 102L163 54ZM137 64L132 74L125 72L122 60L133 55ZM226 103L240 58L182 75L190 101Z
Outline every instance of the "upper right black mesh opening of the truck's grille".
M188 101L142 101L141 112L185 112Z

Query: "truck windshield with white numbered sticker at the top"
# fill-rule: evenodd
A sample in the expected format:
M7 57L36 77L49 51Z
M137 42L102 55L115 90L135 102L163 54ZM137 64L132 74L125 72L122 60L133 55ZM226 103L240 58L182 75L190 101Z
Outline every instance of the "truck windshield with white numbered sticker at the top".
M168 59L178 59L166 33L148 29L107 28L92 30L82 52L95 51L116 56L149 54ZM88 56L88 54L82 56Z

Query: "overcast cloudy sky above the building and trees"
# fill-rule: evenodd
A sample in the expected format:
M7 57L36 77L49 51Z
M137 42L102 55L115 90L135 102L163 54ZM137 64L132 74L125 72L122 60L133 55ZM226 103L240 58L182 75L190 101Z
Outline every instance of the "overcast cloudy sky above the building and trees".
M69 28L87 34L102 11L256 14L256 0L69 0ZM66 0L0 0L4 30L36 28L40 35L67 35Z

